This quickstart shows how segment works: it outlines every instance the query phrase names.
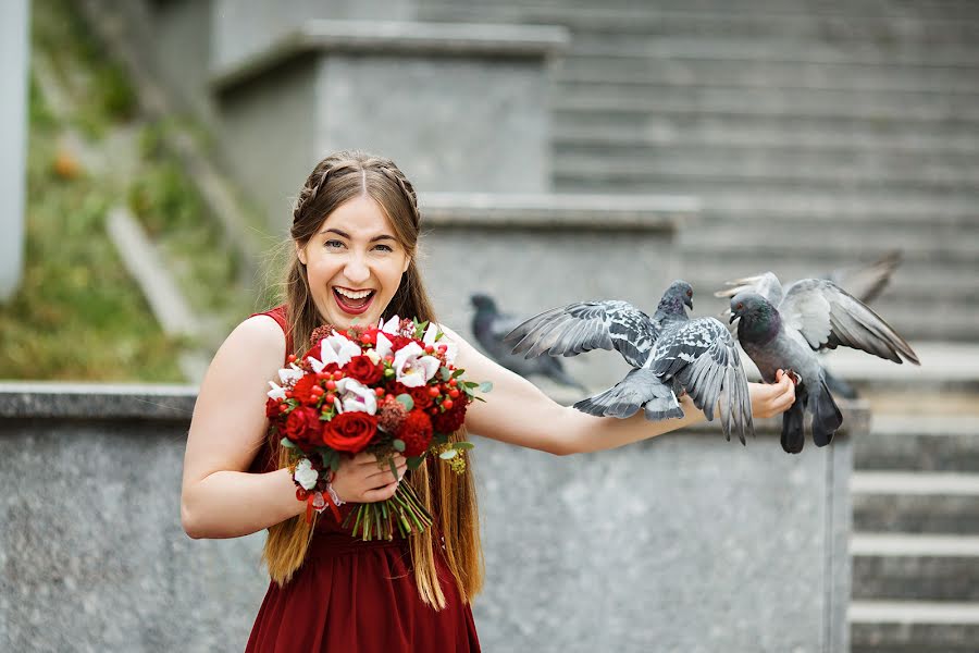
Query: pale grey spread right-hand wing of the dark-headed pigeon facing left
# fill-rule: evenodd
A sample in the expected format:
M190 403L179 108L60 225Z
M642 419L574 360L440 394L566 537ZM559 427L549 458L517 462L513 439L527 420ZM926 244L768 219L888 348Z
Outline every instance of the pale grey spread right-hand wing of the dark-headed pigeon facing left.
M887 360L919 365L918 356L890 324L846 291L823 279L789 286L778 306L782 324L798 331L813 349L862 349Z

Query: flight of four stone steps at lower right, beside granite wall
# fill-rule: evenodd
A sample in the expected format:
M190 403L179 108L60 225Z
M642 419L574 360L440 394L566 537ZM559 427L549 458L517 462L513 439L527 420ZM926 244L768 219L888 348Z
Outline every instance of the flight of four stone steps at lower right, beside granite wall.
M877 418L854 467L853 653L975 651L979 417Z

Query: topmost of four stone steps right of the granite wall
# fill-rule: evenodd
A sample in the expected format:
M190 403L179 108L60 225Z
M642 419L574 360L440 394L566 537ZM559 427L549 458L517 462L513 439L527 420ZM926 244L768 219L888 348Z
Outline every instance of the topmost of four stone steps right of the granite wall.
M949 355L954 356L954 346L950 345ZM938 358L938 357L934 357ZM979 369L975 374L979 375ZM860 470L863 492L890 494L901 488L905 479L902 476L867 476L871 471L924 471L924 472L972 472L979 473L979 418L944 417L918 418L909 420L903 417L877 416L872 420L870 432L854 443L854 468ZM977 477L935 481L931 486L945 489L976 488ZM878 483L876 488L872 483ZM908 493L909 494L909 493ZM915 495L924 495L917 492ZM944 492L956 496L970 496L968 492ZM979 502L977 502L979 503ZM979 507L979 506L977 506Z

